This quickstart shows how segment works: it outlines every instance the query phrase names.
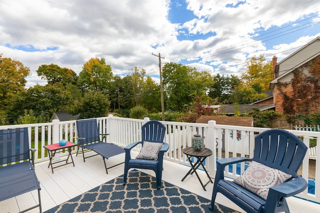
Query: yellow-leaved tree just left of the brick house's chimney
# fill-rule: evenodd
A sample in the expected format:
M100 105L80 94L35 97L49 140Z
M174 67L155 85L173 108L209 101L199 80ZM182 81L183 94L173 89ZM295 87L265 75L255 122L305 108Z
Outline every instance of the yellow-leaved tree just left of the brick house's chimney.
M263 91L269 90L272 81L272 61L266 61L263 55L253 56L246 61L246 71L241 74L244 86L260 85Z

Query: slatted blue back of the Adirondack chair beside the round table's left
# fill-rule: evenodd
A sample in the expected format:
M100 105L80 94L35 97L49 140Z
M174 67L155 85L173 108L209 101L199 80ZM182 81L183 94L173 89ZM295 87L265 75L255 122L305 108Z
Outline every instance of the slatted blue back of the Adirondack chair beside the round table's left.
M163 143L165 135L165 126L156 120L150 120L142 125L142 143L143 141Z

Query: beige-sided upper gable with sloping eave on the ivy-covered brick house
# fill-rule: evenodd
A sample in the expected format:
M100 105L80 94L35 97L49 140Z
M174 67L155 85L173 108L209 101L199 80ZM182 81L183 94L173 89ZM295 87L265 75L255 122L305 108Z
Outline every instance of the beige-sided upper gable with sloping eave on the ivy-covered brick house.
M296 68L320 55L320 37L316 37L275 65L276 78L270 82L270 89ZM288 78L290 80L291 78Z

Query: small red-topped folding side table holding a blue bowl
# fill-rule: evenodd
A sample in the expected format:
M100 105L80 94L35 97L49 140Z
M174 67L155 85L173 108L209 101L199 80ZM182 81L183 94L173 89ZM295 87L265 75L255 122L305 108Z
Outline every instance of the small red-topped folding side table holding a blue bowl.
M50 163L48 165L48 168L51 166L52 174L53 174L53 169L57 168L57 167L61 167L61 166L64 166L64 165L67 165L67 164L71 164L71 163L73 164L73 167L74 167L71 151L72 151L72 147L75 147L75 146L77 146L77 144L71 143L71 142L66 142L66 144L64 146L60 146L59 144L49 144L49 145L43 146L43 148L48 151L48 156L49 156L49 159L50 159ZM52 158L54 157L56 151L58 151L58 153L59 153L59 152L62 151L62 149L67 149L68 150L69 154L68 154L68 157L66 158L66 160L61 160L61 161L57 161L57 162L52 163ZM51 155L50 155L50 153L51 153ZM69 157L71 158L71 162L68 162ZM65 164L62 164L62 165L59 165L59 166L56 166L56 167L52 166L52 164L56 164L56 163L63 162L63 161L65 161Z

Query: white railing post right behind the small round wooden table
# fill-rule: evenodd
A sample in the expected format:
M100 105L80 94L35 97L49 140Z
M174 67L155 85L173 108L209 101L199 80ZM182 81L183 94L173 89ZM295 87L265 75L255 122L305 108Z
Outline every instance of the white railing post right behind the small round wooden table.
M212 151L212 155L208 157L208 168L209 175L214 178L215 176L215 164L216 164L216 144L215 144L215 121L208 121L208 138L207 148Z

